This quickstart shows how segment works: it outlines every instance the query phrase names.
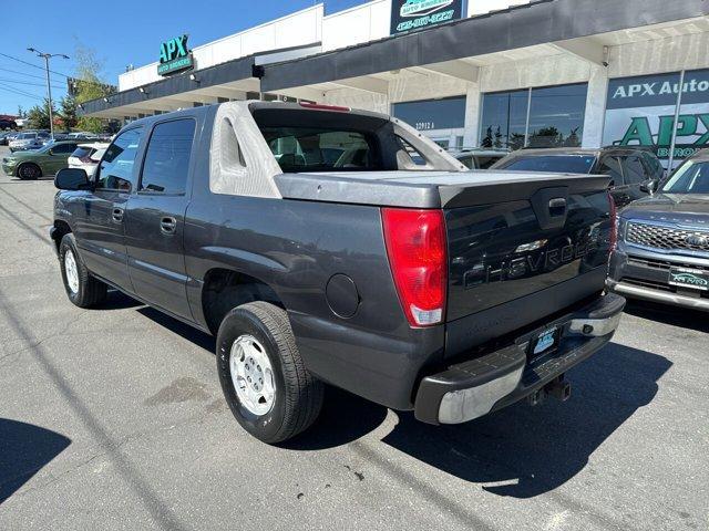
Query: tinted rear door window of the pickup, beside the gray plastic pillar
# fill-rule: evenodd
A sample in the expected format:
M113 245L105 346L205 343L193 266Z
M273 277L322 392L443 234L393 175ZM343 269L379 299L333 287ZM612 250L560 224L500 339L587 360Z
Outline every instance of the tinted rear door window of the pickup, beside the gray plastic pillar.
M194 137L195 121L193 118L157 124L153 128L145 150L138 190L184 194Z

